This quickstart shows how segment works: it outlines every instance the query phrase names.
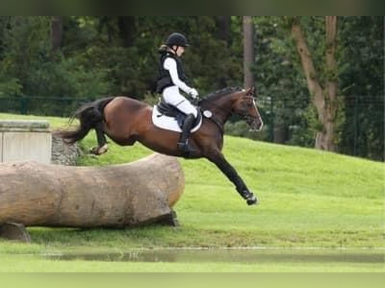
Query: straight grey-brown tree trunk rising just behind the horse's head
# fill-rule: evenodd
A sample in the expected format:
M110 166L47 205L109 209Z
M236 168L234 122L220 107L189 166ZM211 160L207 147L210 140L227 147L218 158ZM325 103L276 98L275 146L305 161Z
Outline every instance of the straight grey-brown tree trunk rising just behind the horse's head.
M254 75L251 66L254 64L254 23L251 16L243 16L243 87L254 87Z

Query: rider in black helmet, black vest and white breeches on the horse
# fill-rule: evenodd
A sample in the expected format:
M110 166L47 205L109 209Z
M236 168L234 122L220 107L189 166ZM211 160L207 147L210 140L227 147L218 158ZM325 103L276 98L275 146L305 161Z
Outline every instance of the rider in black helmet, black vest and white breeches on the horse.
M188 137L190 130L194 124L198 112L184 96L180 94L180 90L187 93L192 99L198 97L198 91L189 87L184 75L182 61L180 56L184 53L184 49L189 46L186 38L180 33L171 33L166 43L159 48L160 67L159 78L157 83L157 92L161 93L163 100L178 110L186 114L183 122L182 133L177 142L178 149L183 153L191 152L188 145Z

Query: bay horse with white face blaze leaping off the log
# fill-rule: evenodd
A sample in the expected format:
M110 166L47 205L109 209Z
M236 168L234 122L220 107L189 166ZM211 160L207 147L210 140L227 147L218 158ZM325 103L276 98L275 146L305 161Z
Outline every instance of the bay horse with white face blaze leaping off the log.
M79 119L77 129L58 133L64 141L74 143L93 128L98 139L98 146L91 150L95 155L107 152L106 134L121 146L131 146L138 141L161 154L186 159L206 158L235 185L248 205L257 204L257 198L221 152L224 125L232 114L245 119L253 130L259 131L262 128L254 88L225 88L209 94L199 101L198 106L201 111L208 110L211 113L204 113L208 116L203 117L202 126L190 134L189 145L193 152L189 155L183 155L177 149L176 142L180 135L178 132L161 129L153 124L152 106L129 97L108 97L81 106L71 118L71 121L74 118Z

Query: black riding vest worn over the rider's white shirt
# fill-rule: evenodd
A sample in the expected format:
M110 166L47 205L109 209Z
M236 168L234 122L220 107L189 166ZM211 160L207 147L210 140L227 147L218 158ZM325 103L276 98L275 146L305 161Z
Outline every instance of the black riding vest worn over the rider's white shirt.
M172 83L170 73L168 70L163 68L163 63L166 60L167 57L171 57L176 61L176 69L178 72L178 77L180 80L182 80L184 83L188 83L188 79L186 75L184 74L183 70L183 65L182 61L180 60L179 57L175 56L174 54L170 52L161 52L160 54L160 60L159 60L159 77L158 77L158 82L156 86L156 92L157 93L162 93L163 90L167 87L173 86L174 84Z

